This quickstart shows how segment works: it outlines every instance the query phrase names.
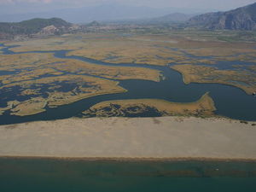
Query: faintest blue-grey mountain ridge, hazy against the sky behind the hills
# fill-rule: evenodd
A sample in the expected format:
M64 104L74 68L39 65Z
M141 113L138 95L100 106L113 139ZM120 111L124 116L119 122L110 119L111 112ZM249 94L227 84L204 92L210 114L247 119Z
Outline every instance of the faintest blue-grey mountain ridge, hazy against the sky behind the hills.
M1 15L0 20L17 22L20 20L30 20L32 18L51 18L58 17L72 23L89 23L93 20L136 20L148 19L168 15L170 13L181 12L187 13L188 9L156 9L144 6L128 6L121 3L106 3L98 6L80 7L70 9L56 9L48 12L26 13L26 14L10 14ZM193 10L192 10L193 12ZM194 11L193 13L198 12ZM202 13L201 11L199 11ZM11 12L13 13L13 12Z

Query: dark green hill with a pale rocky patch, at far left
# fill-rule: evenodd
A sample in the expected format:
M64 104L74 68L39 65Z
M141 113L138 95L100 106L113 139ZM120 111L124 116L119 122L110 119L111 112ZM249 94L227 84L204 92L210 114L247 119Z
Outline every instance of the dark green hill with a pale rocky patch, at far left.
M61 34L67 32L73 26L65 20L59 18L51 19L32 19L21 22L1 22L0 23L0 38L13 38L16 35L31 35L31 34Z

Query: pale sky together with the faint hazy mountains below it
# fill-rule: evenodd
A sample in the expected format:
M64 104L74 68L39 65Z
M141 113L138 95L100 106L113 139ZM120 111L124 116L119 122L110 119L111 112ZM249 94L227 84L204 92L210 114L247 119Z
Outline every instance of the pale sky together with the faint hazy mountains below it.
M0 0L0 21L61 17L70 22L202 14L236 9L255 0Z

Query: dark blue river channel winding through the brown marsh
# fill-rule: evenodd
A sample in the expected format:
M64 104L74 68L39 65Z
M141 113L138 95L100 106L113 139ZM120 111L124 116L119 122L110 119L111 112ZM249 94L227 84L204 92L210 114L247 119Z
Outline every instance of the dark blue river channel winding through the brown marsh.
M70 50L29 51L16 53L10 50L10 48L13 48L14 46L8 47L4 46L3 44L0 44L0 46L3 47L3 55L15 55L24 53L54 53L56 58L87 61L95 65L115 67L144 67L157 69L160 70L165 77L164 79L161 79L160 82L136 79L119 80L119 85L128 90L127 92L102 96L92 96L90 98L80 100L79 102L73 102L58 108L46 108L44 113L38 113L36 115L18 117L10 115L9 112L7 112L0 116L0 125L35 120L66 119L79 116L84 110L87 110L96 103L108 100L154 98L164 99L170 102L195 102L200 99L201 96L203 96L206 92L209 92L210 96L212 96L215 107L217 108L215 111L217 115L229 117L231 119L252 121L256 120L256 97L249 96L243 90L226 84L184 84L182 74L171 69L170 66L160 67L133 63L114 64L104 61L96 61L83 56L68 56L67 52ZM0 72L0 75L6 73ZM154 113L147 113L144 116L150 117L155 115L156 114Z

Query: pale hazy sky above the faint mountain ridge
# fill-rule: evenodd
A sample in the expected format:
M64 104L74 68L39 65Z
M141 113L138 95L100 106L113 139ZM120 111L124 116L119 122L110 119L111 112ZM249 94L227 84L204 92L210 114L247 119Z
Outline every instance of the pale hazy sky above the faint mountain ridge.
M228 10L256 0L0 0L0 15L4 12L38 12L50 9L70 7L87 7L102 3L122 3L132 6L148 6L153 8L185 8L202 10Z

